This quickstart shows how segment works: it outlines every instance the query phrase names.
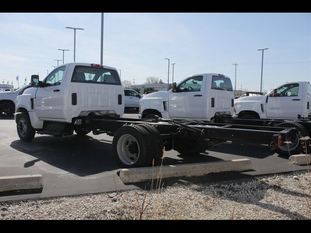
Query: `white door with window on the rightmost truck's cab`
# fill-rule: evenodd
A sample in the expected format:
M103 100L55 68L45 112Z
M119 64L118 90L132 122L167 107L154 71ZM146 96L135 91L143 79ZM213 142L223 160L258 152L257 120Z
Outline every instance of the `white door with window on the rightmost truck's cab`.
M302 88L299 83L289 83L271 93L266 104L268 118L296 119L302 110Z

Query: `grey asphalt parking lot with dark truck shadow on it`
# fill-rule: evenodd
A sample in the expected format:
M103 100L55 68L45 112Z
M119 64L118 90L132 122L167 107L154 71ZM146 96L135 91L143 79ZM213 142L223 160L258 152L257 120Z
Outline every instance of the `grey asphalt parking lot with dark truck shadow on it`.
M137 118L136 112L124 117ZM0 119L0 176L42 174L41 193L0 196L0 201L27 198L44 198L86 193L99 193L141 187L141 184L123 184L119 167L111 152L112 137L106 134L86 137L77 135L53 137L36 134L30 142L20 141L14 119ZM183 157L176 151L165 151L163 165L212 162L248 158L253 170L221 175L206 175L198 179L182 180L200 182L201 179L235 179L277 172L308 169L289 163L287 157L271 152L257 144L226 142L209 148L196 156ZM228 177L229 176L229 177ZM174 183L177 178L167 182Z

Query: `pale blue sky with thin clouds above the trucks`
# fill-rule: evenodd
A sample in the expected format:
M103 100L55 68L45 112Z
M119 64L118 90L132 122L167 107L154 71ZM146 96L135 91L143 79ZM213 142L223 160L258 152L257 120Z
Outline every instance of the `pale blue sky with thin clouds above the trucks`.
M100 63L101 13L0 13L0 83L17 87L52 71L65 51L73 62ZM236 89L259 91L285 82L311 81L310 13L104 13L104 65L121 69L121 80L142 84L147 77L167 83L191 74L221 73ZM60 62L61 64L62 62ZM172 83L172 65L170 65Z

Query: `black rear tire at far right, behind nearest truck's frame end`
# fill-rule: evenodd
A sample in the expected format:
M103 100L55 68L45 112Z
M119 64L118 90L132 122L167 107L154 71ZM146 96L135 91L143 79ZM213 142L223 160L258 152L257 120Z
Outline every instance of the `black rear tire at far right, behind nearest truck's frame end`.
M290 156L294 154L299 154L303 151L304 142L302 143L299 138L308 136L308 131L297 122L283 122L278 124L276 127L282 128L296 128L296 138L292 141L292 145L287 146L287 144L281 145L281 147L276 148L275 152L282 156ZM307 147L309 145L309 140L307 141Z

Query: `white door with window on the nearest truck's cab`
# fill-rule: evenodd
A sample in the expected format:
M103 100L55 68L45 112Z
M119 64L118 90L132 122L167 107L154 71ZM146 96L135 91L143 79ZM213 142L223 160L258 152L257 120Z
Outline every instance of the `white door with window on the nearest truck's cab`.
M55 69L38 87L35 97L35 111L37 116L45 119L61 118L62 90L61 81L66 66Z

